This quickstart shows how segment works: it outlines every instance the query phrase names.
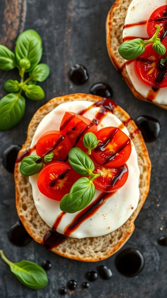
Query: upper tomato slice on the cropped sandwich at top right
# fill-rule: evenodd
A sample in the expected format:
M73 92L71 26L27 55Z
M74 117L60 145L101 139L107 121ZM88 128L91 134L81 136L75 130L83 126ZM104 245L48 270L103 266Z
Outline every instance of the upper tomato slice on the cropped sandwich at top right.
M147 32L149 37L152 37L156 30L157 25L160 26L160 31L157 35L164 43L167 43L167 5L158 7L150 15L147 23Z

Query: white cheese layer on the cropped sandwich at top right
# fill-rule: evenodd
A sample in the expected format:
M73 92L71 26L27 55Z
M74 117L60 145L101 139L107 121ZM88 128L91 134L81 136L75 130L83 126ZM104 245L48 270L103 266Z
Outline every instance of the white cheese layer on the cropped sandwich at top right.
M155 9L166 4L166 0L133 0L127 10L125 25L134 24L145 20L148 21L150 15ZM147 23L144 25L125 27L122 35L123 38L127 36L136 36L136 38L139 37L149 39L149 35L147 33ZM126 65L127 73L136 91L146 98L148 92L152 92L152 88L145 85L143 82L141 82L141 80L138 79L135 73L134 64L135 62ZM167 104L167 87L160 88L158 90L154 101L156 103Z

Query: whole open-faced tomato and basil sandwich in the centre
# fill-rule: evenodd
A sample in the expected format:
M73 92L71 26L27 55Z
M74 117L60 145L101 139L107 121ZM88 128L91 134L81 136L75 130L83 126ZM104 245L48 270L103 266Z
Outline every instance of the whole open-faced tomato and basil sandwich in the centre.
M133 233L150 170L139 129L113 100L53 98L34 114L18 154L18 215L46 249L103 260Z

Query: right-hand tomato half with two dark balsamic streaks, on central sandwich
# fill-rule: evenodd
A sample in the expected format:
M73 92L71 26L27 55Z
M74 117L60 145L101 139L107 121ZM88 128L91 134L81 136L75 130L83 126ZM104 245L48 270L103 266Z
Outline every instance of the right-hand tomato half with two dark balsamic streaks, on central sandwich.
M128 160L132 147L128 136L117 127L105 127L97 131L100 140L92 155L106 167L120 167Z

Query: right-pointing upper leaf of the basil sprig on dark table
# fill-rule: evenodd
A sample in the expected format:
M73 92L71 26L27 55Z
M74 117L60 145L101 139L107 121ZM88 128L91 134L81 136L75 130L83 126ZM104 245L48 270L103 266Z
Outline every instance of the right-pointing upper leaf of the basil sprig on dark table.
M43 82L50 74L49 66L45 63L40 63L30 72L30 77L34 81Z

